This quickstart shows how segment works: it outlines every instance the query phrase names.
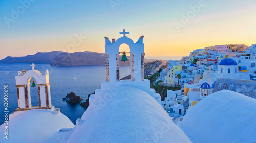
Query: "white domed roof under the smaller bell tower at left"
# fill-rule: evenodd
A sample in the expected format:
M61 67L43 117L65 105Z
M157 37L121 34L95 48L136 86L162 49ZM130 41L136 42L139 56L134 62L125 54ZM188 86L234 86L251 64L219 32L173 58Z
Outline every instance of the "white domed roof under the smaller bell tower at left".
M2 135L5 126L0 126ZM0 142L58 142L62 137L57 132L62 128L73 127L69 118L60 112L54 114L43 109L28 110L11 118L8 122L8 139L1 137Z

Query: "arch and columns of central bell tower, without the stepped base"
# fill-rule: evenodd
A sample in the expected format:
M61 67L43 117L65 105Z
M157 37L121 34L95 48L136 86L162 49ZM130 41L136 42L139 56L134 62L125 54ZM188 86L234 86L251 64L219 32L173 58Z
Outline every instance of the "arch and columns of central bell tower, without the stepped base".
M130 64L131 64L131 81L143 81L144 80L144 44L143 38L141 36L139 40L134 43L134 41L128 37L126 34L129 32L120 32L123 37L112 40L110 42L109 38L105 37L105 59L106 59L106 81L116 82L119 81L119 48L122 44L127 44L130 49Z

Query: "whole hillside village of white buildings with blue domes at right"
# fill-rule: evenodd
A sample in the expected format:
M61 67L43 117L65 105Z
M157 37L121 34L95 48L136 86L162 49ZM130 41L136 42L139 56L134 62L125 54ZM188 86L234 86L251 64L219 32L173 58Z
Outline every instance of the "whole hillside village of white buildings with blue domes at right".
M169 60L162 71L167 72L164 82L178 86L179 81L182 88L167 90L162 106L170 116L180 117L212 93L218 78L256 80L255 53L256 44L215 45L194 50L180 61Z

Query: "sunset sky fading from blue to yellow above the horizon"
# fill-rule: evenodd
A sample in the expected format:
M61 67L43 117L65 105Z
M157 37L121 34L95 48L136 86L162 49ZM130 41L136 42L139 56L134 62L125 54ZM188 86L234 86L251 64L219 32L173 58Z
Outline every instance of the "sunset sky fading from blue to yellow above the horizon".
M190 16L185 23L181 21L184 15ZM134 42L145 36L148 57L187 56L195 49L218 44L250 46L256 43L255 17L256 2L246 0L46 0L29 4L2 0L0 59L50 51L103 53L104 36L118 39L123 29ZM183 25L179 30L177 23ZM86 38L70 50L75 35Z

